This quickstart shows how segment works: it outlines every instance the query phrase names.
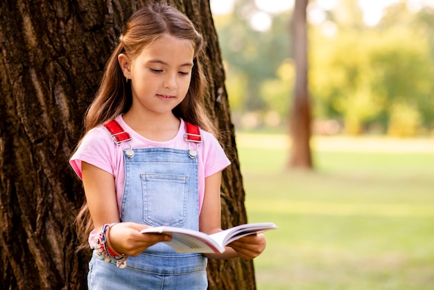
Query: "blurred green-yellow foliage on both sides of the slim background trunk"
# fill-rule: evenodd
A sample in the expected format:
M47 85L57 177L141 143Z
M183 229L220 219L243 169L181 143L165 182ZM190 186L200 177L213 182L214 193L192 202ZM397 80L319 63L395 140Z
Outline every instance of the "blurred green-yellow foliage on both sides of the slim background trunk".
M259 9L254 1L234 3L234 12L216 15L232 111L272 111L284 119L294 82L288 61L291 11L270 15L270 30L260 32L249 23ZM399 136L432 130L433 16L433 8L410 12L401 1L370 27L356 0L340 0L325 11L322 22L309 27L313 117L342 121L354 135L373 128Z

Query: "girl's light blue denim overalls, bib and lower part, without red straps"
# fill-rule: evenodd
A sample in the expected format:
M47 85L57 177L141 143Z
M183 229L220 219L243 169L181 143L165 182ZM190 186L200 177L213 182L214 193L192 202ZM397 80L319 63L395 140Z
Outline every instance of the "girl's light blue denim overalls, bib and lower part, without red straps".
M172 148L133 151L132 157L123 153L121 221L198 230L198 157ZM128 257L126 264L126 268L116 268L94 254L89 289L207 289L207 258L202 254L178 254L158 243L137 257Z

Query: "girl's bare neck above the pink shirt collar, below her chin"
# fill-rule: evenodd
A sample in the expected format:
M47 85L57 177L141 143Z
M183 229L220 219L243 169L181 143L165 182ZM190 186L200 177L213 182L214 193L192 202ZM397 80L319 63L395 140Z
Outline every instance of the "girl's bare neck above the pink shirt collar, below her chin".
M173 114L166 116L133 116L126 112L123 121L139 135L157 142L173 139L180 128L180 119Z

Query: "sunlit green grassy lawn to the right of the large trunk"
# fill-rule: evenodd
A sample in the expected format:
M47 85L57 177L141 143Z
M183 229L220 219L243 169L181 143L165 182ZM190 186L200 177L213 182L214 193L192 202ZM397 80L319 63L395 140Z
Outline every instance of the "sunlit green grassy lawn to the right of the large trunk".
M237 134L249 221L280 227L258 289L433 289L434 140L315 138L313 172L286 141Z

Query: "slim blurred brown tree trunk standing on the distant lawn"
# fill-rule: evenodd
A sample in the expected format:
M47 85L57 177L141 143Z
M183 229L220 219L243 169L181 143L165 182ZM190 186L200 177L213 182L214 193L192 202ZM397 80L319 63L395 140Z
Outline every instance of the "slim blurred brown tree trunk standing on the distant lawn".
M293 56L295 60L295 87L290 114L289 167L311 169L311 108L308 91L306 7L308 0L295 0L293 14Z

